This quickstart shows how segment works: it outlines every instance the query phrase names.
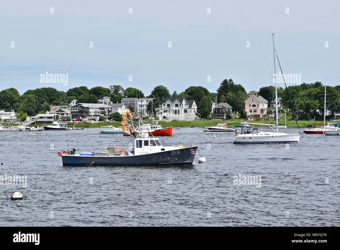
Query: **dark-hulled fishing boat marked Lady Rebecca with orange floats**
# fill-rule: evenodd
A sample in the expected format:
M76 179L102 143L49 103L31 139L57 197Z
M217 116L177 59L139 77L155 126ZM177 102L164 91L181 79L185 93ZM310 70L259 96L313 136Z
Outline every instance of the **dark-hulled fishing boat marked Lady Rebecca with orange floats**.
M129 109L126 109L128 114ZM131 115L130 115L131 117ZM129 117L129 118L130 118ZM123 120L129 118L124 117ZM140 119L138 119L140 122ZM132 118L131 120L132 121ZM123 125L123 130L126 127ZM129 128L132 132L134 127ZM173 165L192 164L198 146L163 146L158 138L150 137L149 133L134 132L134 149L127 151L124 148L107 147L103 152L84 152L76 154L75 150L58 152L62 157L63 165Z

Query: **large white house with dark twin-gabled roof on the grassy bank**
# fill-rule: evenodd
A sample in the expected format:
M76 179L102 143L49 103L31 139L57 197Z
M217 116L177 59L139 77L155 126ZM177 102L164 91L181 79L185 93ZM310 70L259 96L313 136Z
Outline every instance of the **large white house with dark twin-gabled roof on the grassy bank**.
M184 97L169 97L158 112L159 120L194 120L197 113L195 100L185 100Z

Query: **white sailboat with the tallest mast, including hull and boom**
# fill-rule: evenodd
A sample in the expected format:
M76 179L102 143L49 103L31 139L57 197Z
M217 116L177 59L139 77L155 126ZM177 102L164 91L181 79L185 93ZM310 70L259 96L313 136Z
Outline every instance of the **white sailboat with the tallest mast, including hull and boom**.
M277 74L276 74L276 64L275 64L275 43L274 43L274 33L273 35L273 51L274 51L274 79L275 79L275 100L276 100L276 126L275 124L266 124L266 123L249 123L249 122L241 122L246 124L256 124L256 125L266 125L266 126L275 126L275 132L254 132L251 134L242 134L239 133L235 135L234 143L298 143L300 140L300 134L287 134L278 132L278 109L277 109Z

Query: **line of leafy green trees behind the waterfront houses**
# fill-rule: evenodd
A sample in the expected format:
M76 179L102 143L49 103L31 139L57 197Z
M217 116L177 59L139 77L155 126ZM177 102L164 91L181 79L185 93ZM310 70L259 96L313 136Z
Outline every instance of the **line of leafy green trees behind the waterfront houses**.
M310 116L317 116L316 110L323 110L324 105L324 86L321 82L303 83L297 86L288 87L289 95L295 111L303 111ZM332 87L327 86L327 109L335 111L338 108L340 98L340 85ZM15 88L7 88L0 91L0 110L15 110L17 116L33 116L38 113L45 113L52 105L67 105L76 99L78 103L98 103L98 99L108 96L113 103L120 103L121 99L152 97L153 102L149 103L148 110L162 105L168 97L184 97L187 100L195 100L197 112L202 118L207 118L211 112L212 102L226 102L233 107L234 112L246 115L244 101L257 91L252 90L247 93L240 84L235 84L232 79L224 79L216 93L209 92L202 86L190 86L181 93L173 91L170 94L169 89L163 85L156 86L149 96L133 87L124 89L120 85L112 85L109 88L97 86L87 88L86 86L74 87L65 91L58 91L52 87L43 87L27 90L22 95ZM275 87L265 86L259 89L259 95L267 101L275 99ZM290 107L290 101L287 91L283 88L277 90L278 97L282 98L283 105Z

